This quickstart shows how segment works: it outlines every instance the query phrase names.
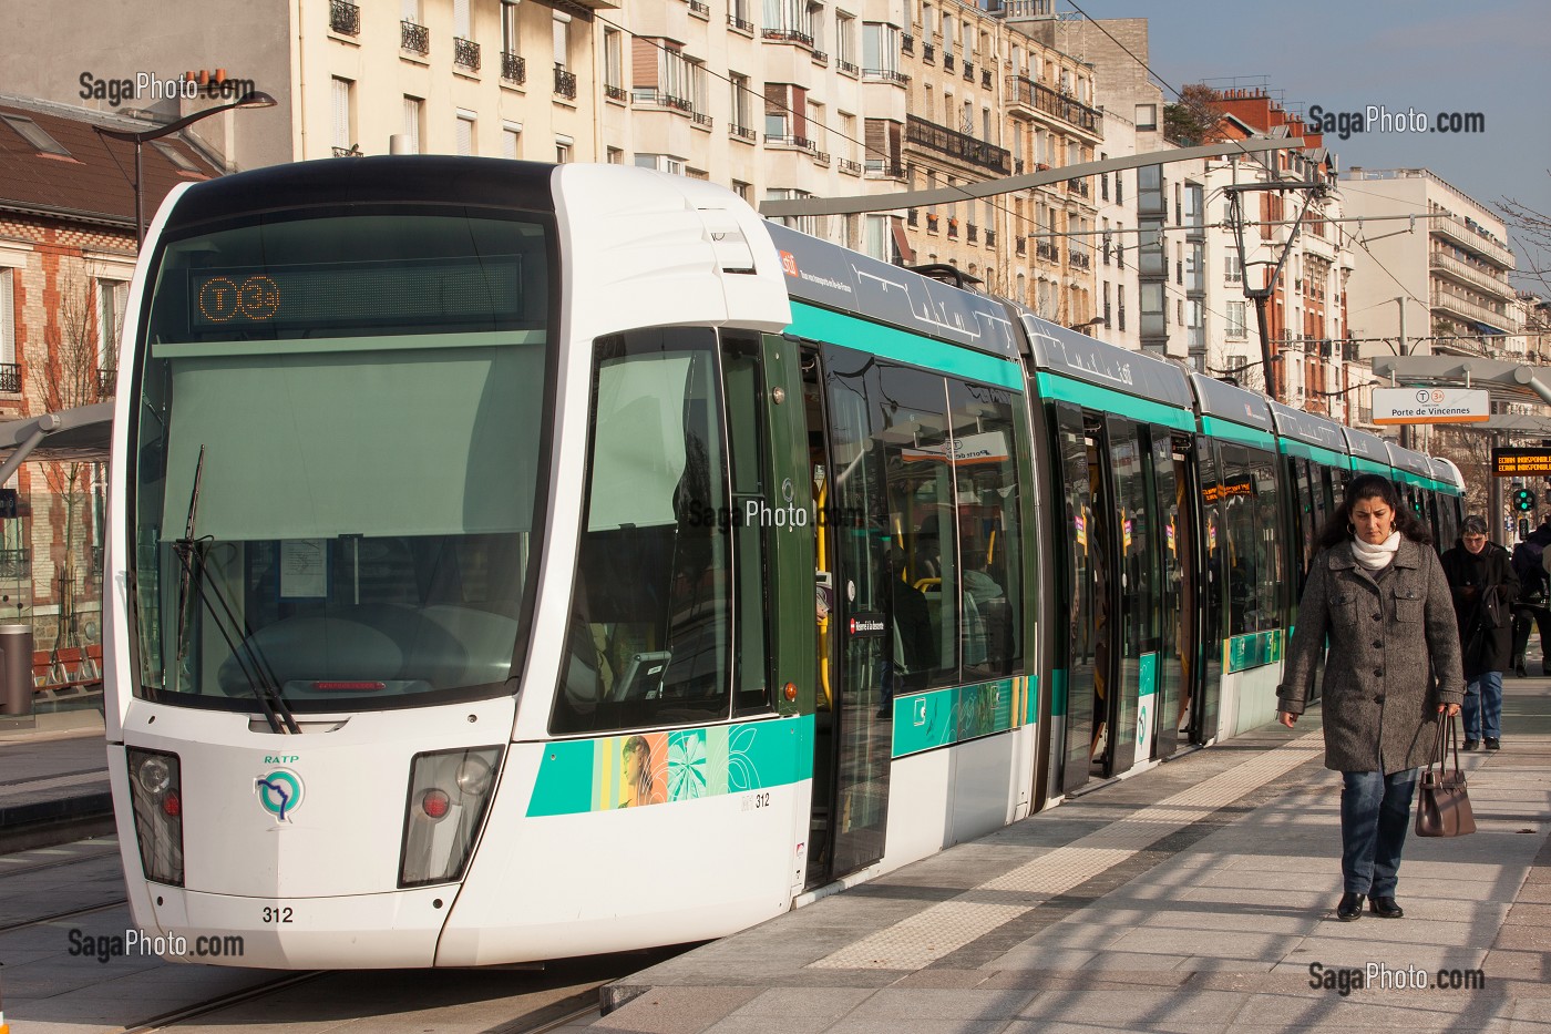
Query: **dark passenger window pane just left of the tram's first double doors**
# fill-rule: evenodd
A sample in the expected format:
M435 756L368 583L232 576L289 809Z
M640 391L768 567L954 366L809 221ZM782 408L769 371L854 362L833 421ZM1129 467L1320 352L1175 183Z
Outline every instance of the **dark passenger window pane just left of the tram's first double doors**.
M952 419L959 557L963 565L965 682L1022 671L1022 525L1017 396L962 380L948 382Z

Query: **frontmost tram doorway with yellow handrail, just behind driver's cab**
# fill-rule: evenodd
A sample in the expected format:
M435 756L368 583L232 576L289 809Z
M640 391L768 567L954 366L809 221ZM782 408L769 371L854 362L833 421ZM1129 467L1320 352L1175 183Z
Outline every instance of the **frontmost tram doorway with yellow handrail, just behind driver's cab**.
M817 520L814 596L819 692L807 885L884 854L892 700L884 689L892 564L884 460L869 399L876 363L845 349L802 354L808 466Z

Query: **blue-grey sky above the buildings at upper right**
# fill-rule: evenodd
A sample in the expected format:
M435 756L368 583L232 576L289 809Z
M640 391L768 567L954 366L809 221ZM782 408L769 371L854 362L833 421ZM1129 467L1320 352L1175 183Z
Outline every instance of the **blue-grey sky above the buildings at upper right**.
M1551 8L1545 0L1059 0L1092 19L1145 17L1148 64L1169 87L1266 85L1304 115L1439 112L1484 116L1478 134L1326 135L1345 171L1427 168L1492 208L1504 197L1551 216ZM1236 79L1236 82L1235 82ZM1509 241L1525 267L1526 247ZM1540 267L1551 255L1532 256ZM1522 287L1537 287L1515 278Z

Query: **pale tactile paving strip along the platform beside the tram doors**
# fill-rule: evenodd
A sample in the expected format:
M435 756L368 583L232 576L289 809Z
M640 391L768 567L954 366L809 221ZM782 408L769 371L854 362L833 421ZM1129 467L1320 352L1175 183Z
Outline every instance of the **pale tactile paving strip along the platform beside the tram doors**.
M1115 820L1089 835L1031 859L1002 876L932 905L838 952L810 963L810 969L903 969L931 966L945 955L985 936L1033 910L1041 900L1064 894L1100 873L1185 826L1258 790L1323 751L1323 733L1307 733L1281 747L1233 765L1174 796ZM977 897L1028 894L1021 904L990 904Z

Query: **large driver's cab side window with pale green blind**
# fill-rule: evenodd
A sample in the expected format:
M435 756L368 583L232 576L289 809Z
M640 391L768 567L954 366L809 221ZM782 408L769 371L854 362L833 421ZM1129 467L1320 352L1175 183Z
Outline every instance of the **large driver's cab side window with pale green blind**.
M551 728L724 717L732 515L715 332L600 338L591 425L569 655Z

